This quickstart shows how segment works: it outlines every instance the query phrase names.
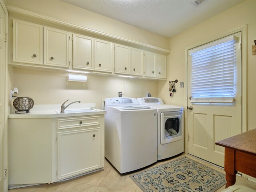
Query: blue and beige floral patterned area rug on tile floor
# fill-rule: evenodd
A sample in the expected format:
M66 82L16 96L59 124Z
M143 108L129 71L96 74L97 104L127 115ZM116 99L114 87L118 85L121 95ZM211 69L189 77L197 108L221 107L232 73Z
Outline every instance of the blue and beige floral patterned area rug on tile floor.
M131 175L144 192L214 192L226 184L225 174L182 157Z

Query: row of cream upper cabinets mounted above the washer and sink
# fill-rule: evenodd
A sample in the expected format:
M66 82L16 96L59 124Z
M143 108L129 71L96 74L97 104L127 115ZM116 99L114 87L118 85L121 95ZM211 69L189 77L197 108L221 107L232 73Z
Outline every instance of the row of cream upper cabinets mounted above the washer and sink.
M114 44L16 19L12 38L12 66L166 79L166 56L131 47L138 45Z

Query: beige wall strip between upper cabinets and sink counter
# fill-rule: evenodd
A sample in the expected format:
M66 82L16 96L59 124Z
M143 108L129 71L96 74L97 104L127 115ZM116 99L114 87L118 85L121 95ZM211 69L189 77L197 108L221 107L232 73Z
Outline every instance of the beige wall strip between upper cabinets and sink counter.
M126 88L125 88L126 82ZM82 103L96 103L101 108L101 100L118 97L146 97L148 93L157 96L157 81L134 81L121 77L88 75L87 82L68 82L66 72L14 68L14 87L19 97L30 97L35 104L61 104L80 100ZM69 103L69 102L68 102Z

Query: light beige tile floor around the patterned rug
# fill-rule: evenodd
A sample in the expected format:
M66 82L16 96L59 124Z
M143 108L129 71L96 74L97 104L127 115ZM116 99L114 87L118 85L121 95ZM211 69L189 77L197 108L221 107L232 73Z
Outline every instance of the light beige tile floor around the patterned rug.
M181 154L175 158L157 162L150 167L158 166L183 156L187 156L225 174L224 169L188 154ZM150 167L147 167L146 169ZM131 174L120 175L116 169L105 160L104 170L80 176L65 182L11 189L9 192L142 192L142 190L132 181L129 175ZM256 189L256 183L239 176L236 176L236 184ZM225 186L217 190L217 192L224 189Z

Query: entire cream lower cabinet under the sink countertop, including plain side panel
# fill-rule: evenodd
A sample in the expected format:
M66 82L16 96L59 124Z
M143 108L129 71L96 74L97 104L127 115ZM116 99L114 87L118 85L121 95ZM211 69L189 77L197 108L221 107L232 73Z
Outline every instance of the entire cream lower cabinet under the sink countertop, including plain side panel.
M8 185L57 182L104 167L104 114L8 119Z

